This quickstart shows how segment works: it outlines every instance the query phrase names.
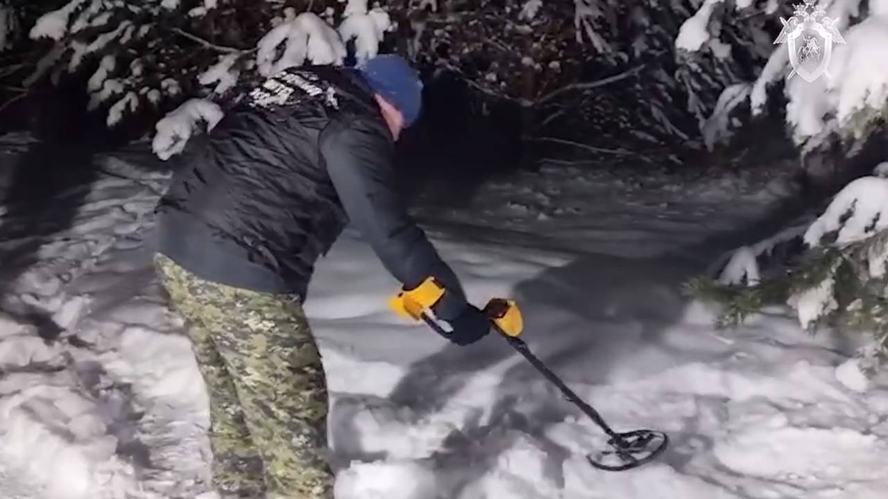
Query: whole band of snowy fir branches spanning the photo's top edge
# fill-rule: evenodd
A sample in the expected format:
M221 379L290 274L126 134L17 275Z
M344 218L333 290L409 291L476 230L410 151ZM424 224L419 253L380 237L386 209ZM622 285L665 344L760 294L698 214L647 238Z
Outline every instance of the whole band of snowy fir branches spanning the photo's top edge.
M848 43L836 46L831 83L785 85L799 146L815 148L836 134L865 140L876 130L886 92L878 68L888 64L878 63L884 51L873 47L888 32L880 29L886 2L868 2L866 12L856 0L829 3ZM776 0L71 0L56 7L19 23L41 50L24 61L27 73L4 83L81 78L93 107L122 111L110 123L163 114L188 98L226 108L241 85L284 66L360 64L402 50L425 75L460 75L480 112L492 100L527 109L521 129L529 139L638 140L654 145L660 162L675 158L659 145L680 139L682 147L712 149L732 138L738 116L765 108L769 89L788 73L786 47L773 39L781 15L791 14Z

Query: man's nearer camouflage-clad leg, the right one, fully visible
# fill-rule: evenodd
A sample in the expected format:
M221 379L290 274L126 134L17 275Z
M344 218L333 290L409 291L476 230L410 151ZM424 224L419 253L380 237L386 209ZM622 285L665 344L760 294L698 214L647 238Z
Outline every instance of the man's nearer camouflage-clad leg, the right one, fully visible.
M332 499L327 385L302 305L294 297L222 289L233 306L203 317L262 455L266 497Z

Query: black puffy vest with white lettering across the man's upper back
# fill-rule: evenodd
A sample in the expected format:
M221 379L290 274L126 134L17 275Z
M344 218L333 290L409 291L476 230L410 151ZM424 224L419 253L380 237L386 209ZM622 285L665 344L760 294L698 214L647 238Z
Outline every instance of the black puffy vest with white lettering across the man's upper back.
M385 126L354 70L268 78L183 158L158 204L158 250L209 281L305 297L314 262L348 221L319 137L355 115Z

